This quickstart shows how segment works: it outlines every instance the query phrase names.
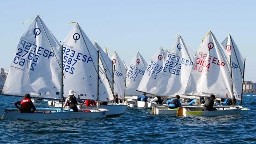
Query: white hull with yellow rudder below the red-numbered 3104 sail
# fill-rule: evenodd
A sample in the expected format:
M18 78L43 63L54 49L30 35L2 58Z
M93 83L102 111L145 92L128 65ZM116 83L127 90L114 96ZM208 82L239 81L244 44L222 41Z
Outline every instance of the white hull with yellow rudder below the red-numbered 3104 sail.
M177 116L225 116L239 114L242 106L237 107L220 107L216 111L202 111L202 108L185 108L180 107Z

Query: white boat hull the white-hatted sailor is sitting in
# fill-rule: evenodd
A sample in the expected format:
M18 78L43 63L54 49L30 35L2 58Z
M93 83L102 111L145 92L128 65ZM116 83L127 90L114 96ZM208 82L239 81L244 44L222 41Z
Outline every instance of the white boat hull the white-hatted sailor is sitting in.
M79 112L73 112L70 118L105 118L108 112L108 109L79 109Z

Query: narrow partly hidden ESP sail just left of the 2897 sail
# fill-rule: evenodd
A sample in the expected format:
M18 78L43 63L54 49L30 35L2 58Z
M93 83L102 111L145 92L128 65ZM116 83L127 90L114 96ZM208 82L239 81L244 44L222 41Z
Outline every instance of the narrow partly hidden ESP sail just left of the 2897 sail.
M116 52L114 52L111 59L114 65L114 94L118 94L119 99L123 99L125 92L126 68Z

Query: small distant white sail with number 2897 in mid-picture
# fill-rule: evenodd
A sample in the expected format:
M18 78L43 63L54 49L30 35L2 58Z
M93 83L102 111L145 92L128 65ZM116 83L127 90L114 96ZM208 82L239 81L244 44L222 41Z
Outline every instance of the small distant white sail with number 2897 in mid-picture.
M126 95L141 95L141 92L136 91L140 85L147 63L144 58L137 52L136 56L131 61L126 72Z

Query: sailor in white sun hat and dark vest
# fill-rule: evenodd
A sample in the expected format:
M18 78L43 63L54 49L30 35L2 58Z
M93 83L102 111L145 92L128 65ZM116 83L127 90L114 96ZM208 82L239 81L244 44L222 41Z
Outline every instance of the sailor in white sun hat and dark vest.
M73 109L74 112L78 112L77 108L77 102L83 103L81 99L78 99L74 96L75 92L73 90L69 90L68 98L66 98L65 104L63 107L66 105L69 106L69 109Z

